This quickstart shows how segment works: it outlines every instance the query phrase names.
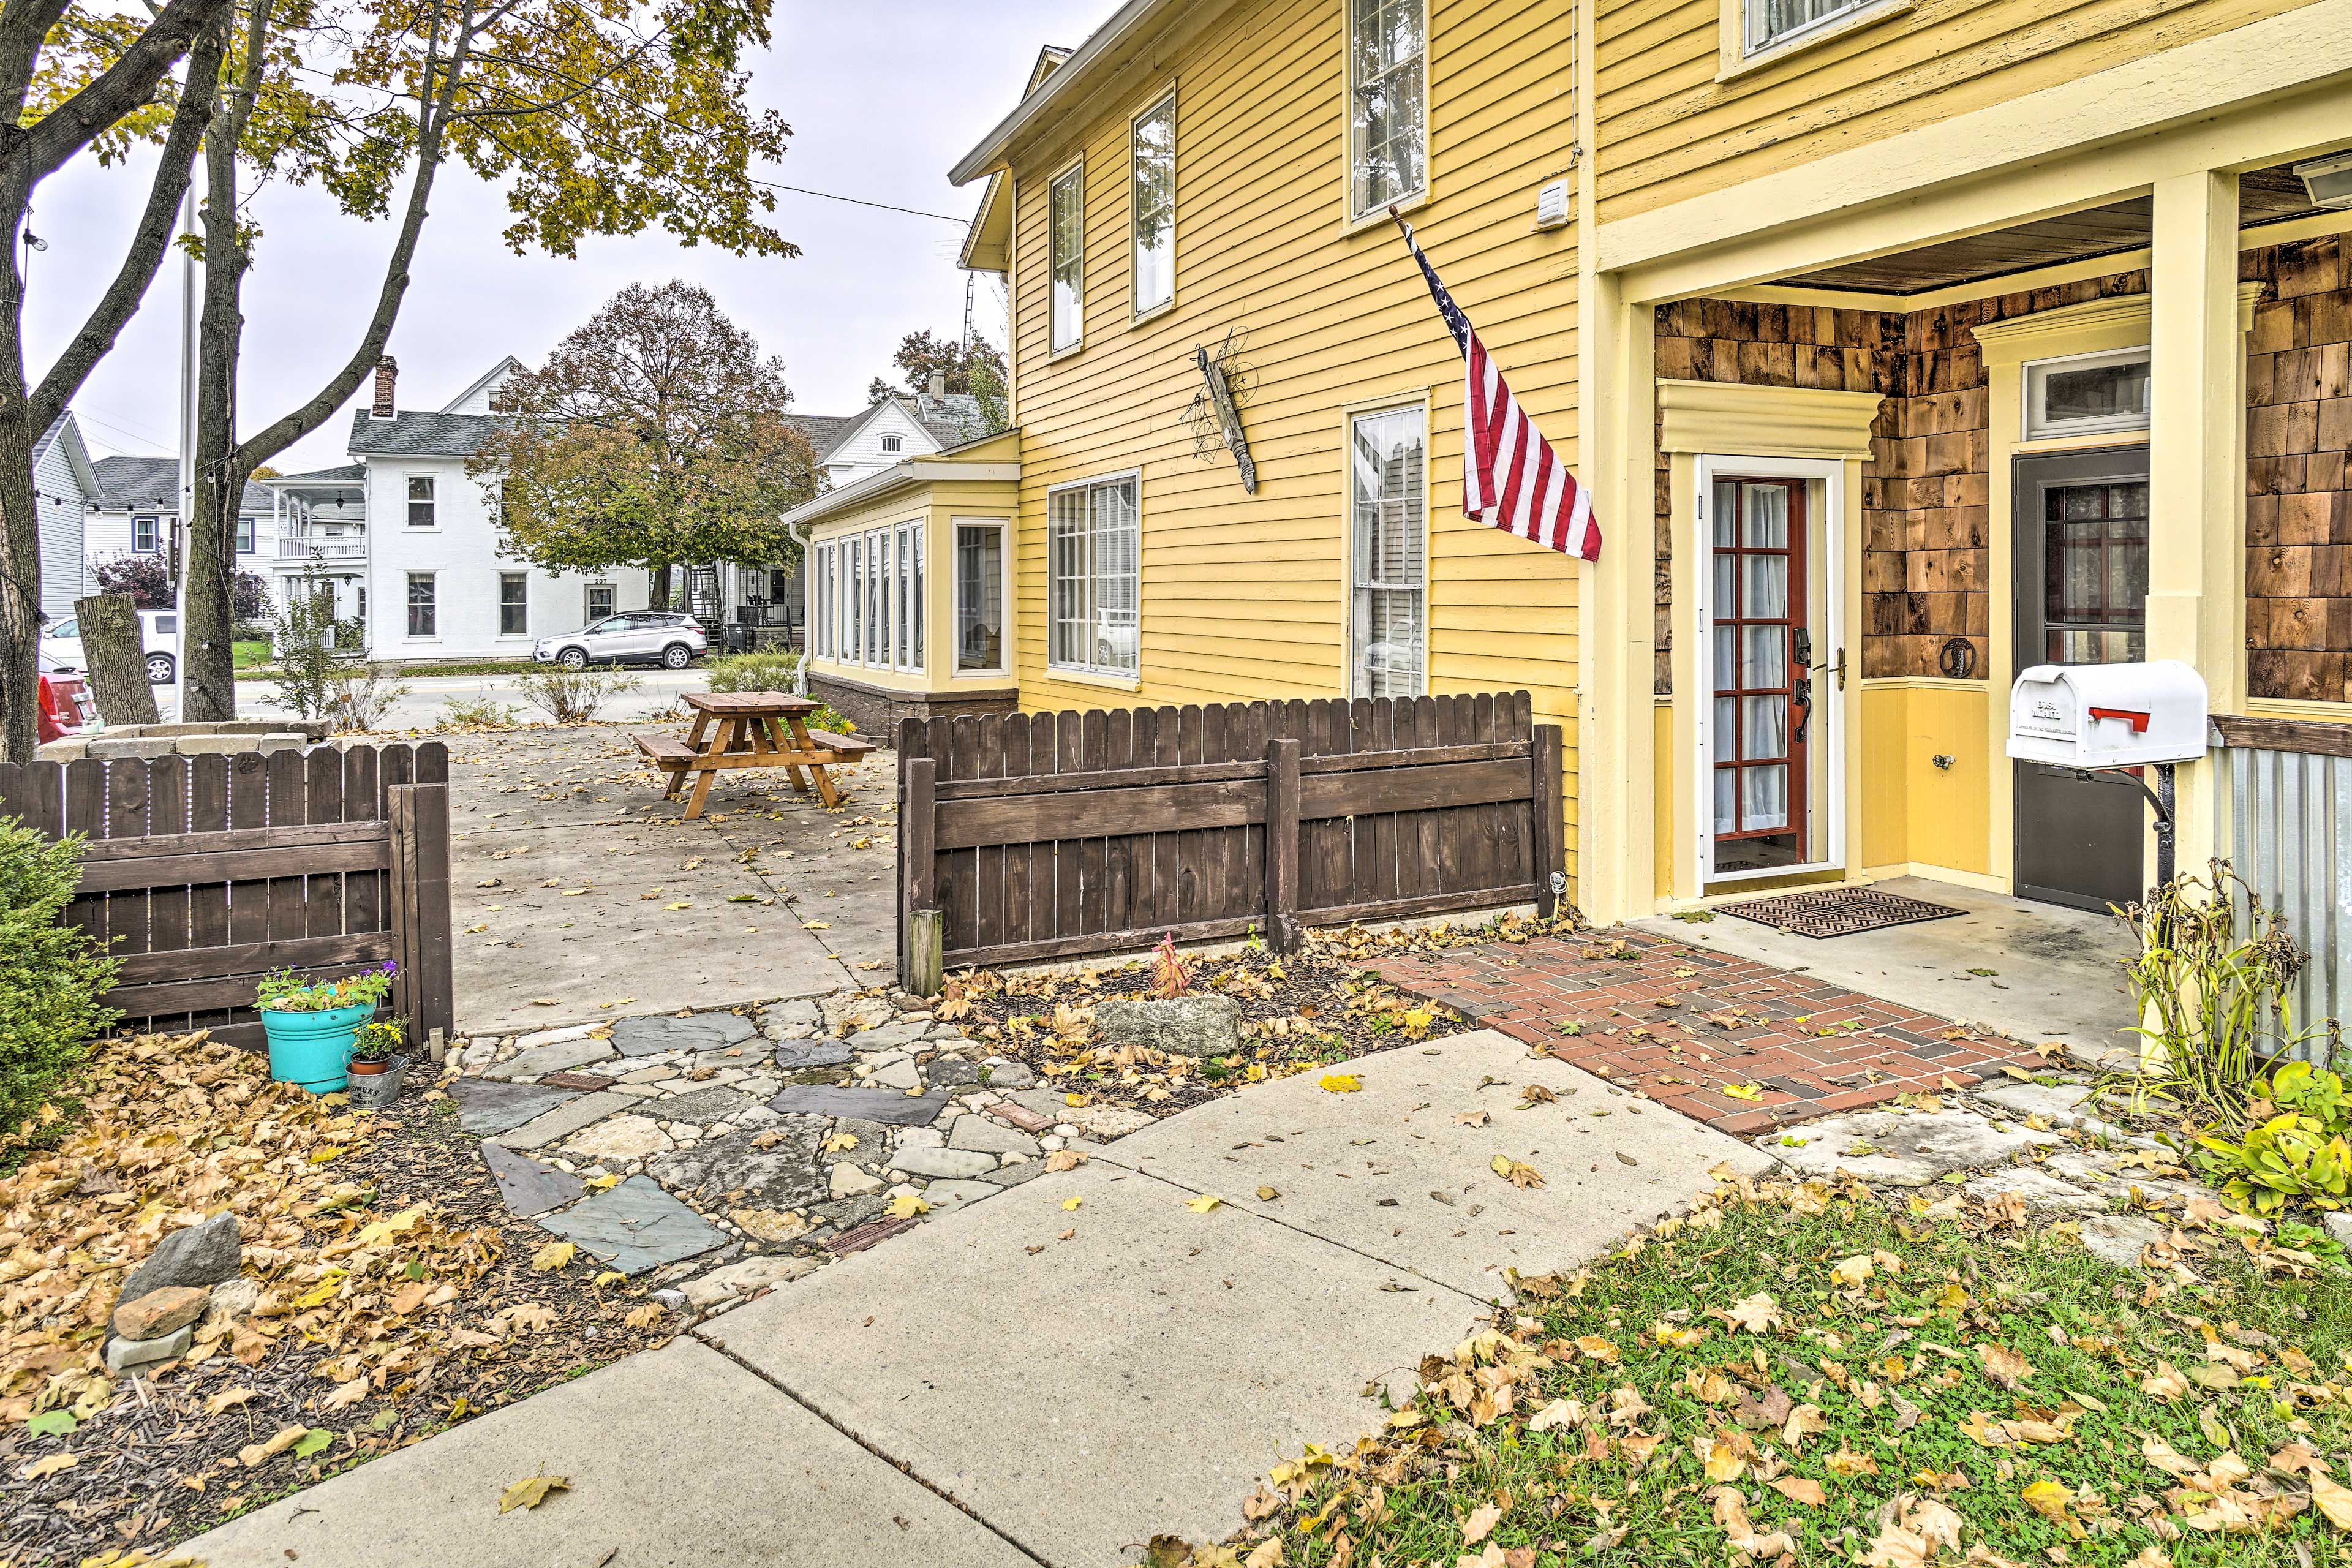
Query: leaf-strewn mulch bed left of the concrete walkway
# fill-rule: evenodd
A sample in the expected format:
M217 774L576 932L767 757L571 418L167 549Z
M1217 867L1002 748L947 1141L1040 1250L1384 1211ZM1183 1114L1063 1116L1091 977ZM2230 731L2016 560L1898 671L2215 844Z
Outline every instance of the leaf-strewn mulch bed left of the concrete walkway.
M0 1180L0 1566L158 1552L670 1338L637 1286L546 1258L437 1091L360 1114L188 1034L99 1046L80 1098ZM125 1274L221 1208L252 1309L216 1295L183 1361L108 1378Z

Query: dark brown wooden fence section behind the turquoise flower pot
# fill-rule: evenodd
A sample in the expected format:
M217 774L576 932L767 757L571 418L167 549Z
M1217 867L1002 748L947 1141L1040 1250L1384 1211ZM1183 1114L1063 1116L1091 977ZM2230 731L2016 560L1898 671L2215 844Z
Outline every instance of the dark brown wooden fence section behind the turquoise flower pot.
M122 959L125 1030L259 1046L263 973L383 959L412 1041L454 1027L440 741L0 764L0 816L89 839L66 919Z

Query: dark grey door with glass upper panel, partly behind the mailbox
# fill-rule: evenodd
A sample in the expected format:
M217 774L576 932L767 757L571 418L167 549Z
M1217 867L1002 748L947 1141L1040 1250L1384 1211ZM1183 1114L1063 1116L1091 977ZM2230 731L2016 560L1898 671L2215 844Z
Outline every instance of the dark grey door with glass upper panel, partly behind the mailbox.
M2147 447L2013 470L2018 668L2147 658ZM2013 769L2020 898L2105 910L2147 891L2136 783Z

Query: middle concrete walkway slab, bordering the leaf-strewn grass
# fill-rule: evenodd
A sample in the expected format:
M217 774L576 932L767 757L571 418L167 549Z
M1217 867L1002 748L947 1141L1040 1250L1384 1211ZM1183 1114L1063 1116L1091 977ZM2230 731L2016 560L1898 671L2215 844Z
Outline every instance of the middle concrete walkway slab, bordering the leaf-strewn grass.
M1098 1159L701 1333L1056 1568L1218 1540L1254 1476L1369 1429L1359 1389L1411 1380L1479 1302L1190 1197Z

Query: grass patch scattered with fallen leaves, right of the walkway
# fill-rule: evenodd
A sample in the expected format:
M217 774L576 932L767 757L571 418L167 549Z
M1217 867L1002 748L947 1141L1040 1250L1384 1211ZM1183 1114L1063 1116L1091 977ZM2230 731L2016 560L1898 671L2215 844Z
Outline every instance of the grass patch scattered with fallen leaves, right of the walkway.
M2347 1561L2352 1295L2192 1201L2147 1267L1962 1197L1726 1182L1421 1363L1164 1568Z

